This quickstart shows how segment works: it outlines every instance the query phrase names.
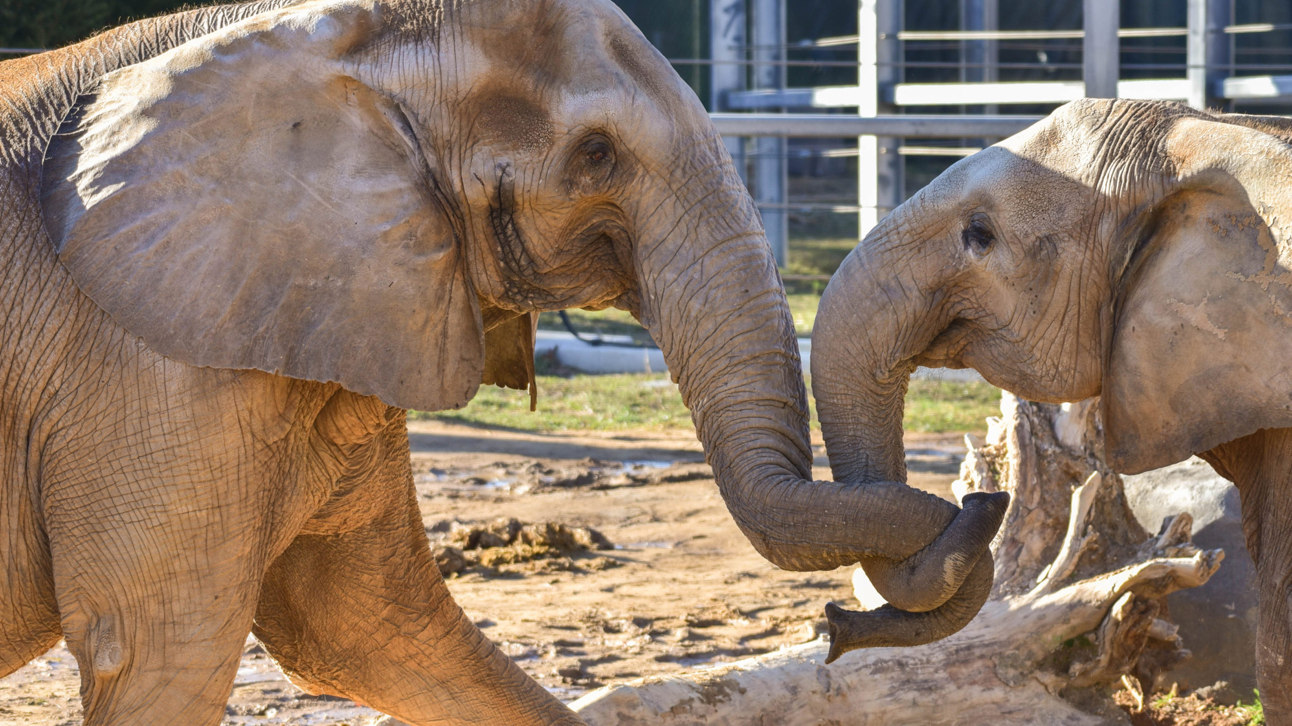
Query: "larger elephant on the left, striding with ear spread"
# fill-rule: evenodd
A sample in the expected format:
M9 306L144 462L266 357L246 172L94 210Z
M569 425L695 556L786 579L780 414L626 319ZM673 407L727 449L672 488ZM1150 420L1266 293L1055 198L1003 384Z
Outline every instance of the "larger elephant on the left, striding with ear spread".
M406 429L532 407L545 310L641 320L771 562L975 607L1004 500L810 479L757 209L609 0L209 6L0 80L0 674L66 638L88 726L218 723L248 633L412 725L578 723L450 596Z

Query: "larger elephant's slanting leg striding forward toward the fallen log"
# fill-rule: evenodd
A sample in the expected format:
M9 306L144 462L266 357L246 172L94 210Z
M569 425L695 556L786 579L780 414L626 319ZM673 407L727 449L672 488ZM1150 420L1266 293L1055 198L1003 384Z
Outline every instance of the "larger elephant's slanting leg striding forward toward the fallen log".
M412 725L583 723L453 602L430 557L403 422L389 433L386 464L269 567L256 637L301 687ZM336 522L346 531L329 531Z

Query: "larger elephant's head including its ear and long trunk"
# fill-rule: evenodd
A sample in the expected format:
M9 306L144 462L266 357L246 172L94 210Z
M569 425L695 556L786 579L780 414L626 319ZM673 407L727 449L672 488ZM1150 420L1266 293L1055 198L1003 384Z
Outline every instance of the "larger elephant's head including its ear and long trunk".
M757 212L609 0L265 12L105 76L43 174L78 287L169 358L455 408L482 381L532 386L536 313L614 305L659 341L776 565L882 559L894 602L937 607L999 526L901 484L810 481Z

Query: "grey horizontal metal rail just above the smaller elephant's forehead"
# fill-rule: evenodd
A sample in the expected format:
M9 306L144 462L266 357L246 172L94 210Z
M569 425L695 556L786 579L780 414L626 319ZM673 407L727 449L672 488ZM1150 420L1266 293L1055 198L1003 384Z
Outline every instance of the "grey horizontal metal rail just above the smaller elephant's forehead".
M978 103L983 103L979 101ZM943 138L1014 136L1044 116L853 116L842 114L709 114L724 136L916 136Z

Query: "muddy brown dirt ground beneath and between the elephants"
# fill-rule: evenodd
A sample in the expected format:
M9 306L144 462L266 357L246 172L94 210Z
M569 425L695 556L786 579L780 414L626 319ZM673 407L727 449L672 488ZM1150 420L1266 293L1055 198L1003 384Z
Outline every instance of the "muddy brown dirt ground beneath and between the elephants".
M690 433L530 434L410 421L428 534L500 517L590 527L612 549L450 575L453 597L527 673L574 700L817 638L827 602L857 607L851 568L788 572L736 530ZM829 478L815 442L815 477ZM956 434L908 434L911 483L950 497ZM472 553L468 553L472 554ZM56 647L0 679L0 726L80 723L80 676ZM292 686L248 639L225 723L397 723Z

